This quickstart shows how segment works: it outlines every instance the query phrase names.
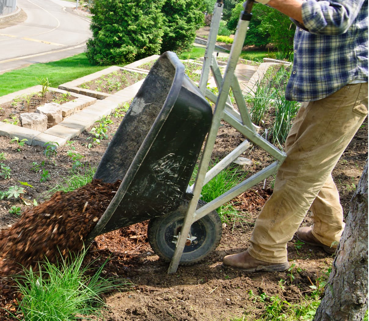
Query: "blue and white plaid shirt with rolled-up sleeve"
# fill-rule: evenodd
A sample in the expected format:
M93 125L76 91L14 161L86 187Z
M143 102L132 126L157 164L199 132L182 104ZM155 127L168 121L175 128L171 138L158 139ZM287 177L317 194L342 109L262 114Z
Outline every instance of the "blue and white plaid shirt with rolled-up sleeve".
M296 23L286 99L325 98L353 81L368 82L368 0L306 0Z

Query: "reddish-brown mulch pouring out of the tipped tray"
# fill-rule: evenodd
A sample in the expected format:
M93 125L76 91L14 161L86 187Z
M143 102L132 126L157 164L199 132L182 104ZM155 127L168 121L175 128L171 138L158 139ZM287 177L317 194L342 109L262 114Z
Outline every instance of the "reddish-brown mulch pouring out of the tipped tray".
M24 212L19 221L0 231L0 296L15 296L9 276L38 270L38 262L57 263L77 253L106 210L120 185L93 180L72 192L55 193Z

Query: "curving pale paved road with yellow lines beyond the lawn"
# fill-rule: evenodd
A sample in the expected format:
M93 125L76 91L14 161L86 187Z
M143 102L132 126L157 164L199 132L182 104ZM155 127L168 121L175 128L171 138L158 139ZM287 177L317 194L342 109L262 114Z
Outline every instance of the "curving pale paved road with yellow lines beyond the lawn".
M74 14L75 4L61 0L18 0L17 5L27 19L0 29L0 74L85 50L86 40L91 37L90 19Z

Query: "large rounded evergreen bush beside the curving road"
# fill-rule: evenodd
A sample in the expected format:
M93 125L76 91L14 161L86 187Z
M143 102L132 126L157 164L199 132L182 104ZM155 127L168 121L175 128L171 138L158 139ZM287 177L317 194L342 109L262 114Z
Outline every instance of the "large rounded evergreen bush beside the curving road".
M159 54L165 0L99 0L91 13L93 38L86 55L93 65L124 64Z

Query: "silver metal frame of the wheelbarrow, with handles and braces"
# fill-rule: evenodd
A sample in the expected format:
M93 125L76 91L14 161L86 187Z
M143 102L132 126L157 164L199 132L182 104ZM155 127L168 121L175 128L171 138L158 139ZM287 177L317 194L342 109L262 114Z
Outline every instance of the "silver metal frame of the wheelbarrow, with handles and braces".
M208 43L206 48L206 53L204 57L203 69L201 72L200 91L204 94L206 98L215 103L215 110L213 113L213 121L211 124L210 131L208 133L206 144L201 156L200 165L197 171L197 176L194 185L190 187L190 192L194 195L189 202L187 212L184 218L183 226L181 229L181 235L176 240L176 249L173 253L172 260L170 262L168 273L175 273L177 267L180 263L182 252L186 246L187 235L190 231L191 225L198 221L199 219L206 216L211 211L214 211L219 206L227 203L231 199L237 197L238 195L245 192L247 189L253 187L254 185L262 182L270 175L277 172L280 165L286 158L286 154L270 144L267 140L263 139L258 133L258 127L255 126L250 119L247 107L245 105L245 100L242 95L241 88L237 81L234 71L241 54L242 47L244 44L246 32L252 17L251 9L254 4L254 0L248 0L244 3L244 11L241 12L237 30L232 44L230 56L228 59L227 67L222 77L220 70L218 68L217 62L215 60L214 48L217 36L217 31L219 29L221 13L223 11L223 0L217 0L214 5L213 18L210 26L210 34L208 37ZM219 95L215 96L212 92L206 89L206 84L209 75L209 69L214 76L215 82L217 83ZM236 103L238 105L237 112L230 103L230 98L228 92L232 89ZM215 175L220 173L224 168L232 163L239 155L241 155L248 147L249 143L245 140L237 148L235 148L230 154L223 158L219 163L217 163L211 170L208 171L208 165L210 163L211 153L214 148L215 139L217 137L218 128L220 127L220 121L224 120L232 127L234 127L238 132L242 133L247 140L252 141L252 143L258 145L272 157L276 159L273 164L265 167L263 170L247 178L243 182L239 183L234 188L215 198L213 201L207 203L199 209L196 209L197 202L200 198L201 189L203 186L210 181Z

